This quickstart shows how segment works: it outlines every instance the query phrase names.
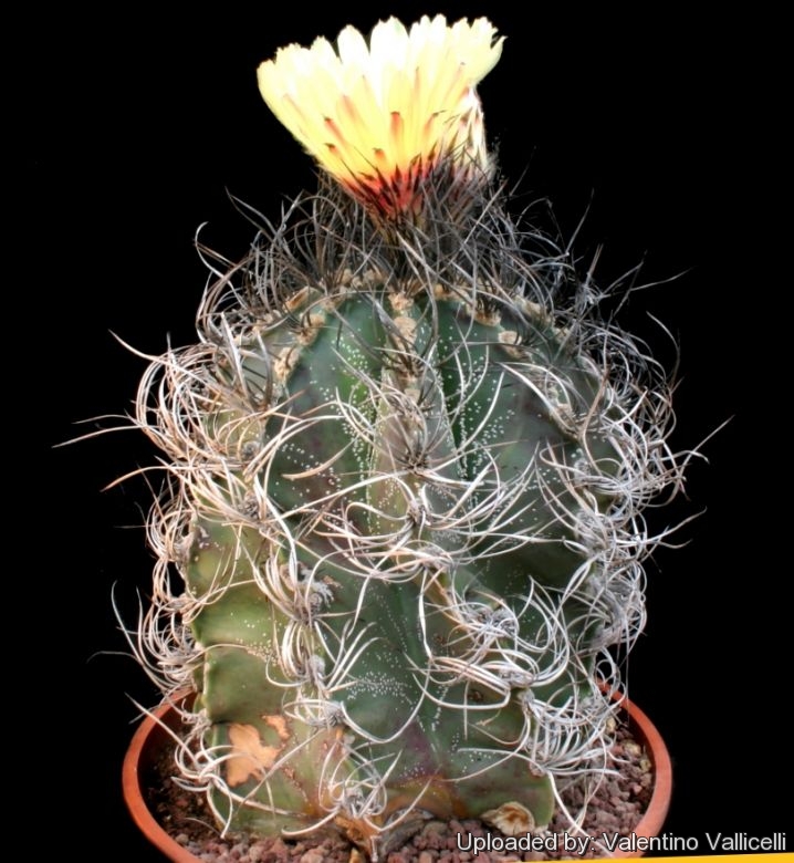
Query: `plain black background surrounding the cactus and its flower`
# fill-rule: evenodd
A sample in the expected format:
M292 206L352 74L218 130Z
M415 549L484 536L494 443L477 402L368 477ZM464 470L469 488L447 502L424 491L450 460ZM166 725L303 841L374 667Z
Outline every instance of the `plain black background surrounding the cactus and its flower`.
M519 13L500 0L268 14L222 4L164 19L116 7L112 17L31 21L22 34L12 89L23 157L9 165L22 190L22 253L13 256L22 272L9 290L20 312L7 326L27 345L9 372L21 383L9 406L19 443L10 467L24 469L19 485L31 499L18 513L27 551L10 570L23 599L7 614L31 622L11 651L23 657L17 690L39 700L31 718L14 699L20 738L39 729L31 793L48 823L90 821L82 859L106 859L111 836L116 860L158 859L119 791L130 696L150 705L155 695L118 655L126 646L111 604L115 589L134 623L136 592L145 601L149 492L140 479L102 491L156 454L130 430L53 446L97 427L80 420L129 409L145 362L112 333L144 354L191 341L206 281L192 248L198 226L207 222L203 241L230 258L251 239L227 191L276 217L313 187L310 159L260 100L258 63L281 44L334 37L348 22L366 31L393 11L405 21L488 14L508 40L480 93L502 168L520 180L516 205L550 198L565 236L589 207L576 249L585 266L604 246L603 282L642 259L644 281L680 274L635 294L623 321L651 332L648 314L658 316L680 346L678 447L732 419L703 445L710 464L693 461L687 499L652 516L661 528L701 513L677 536L683 548L660 549L647 568L649 623L629 692L673 759L668 832L700 838L704 852L706 831L785 829L791 456L775 309L790 275L770 239L780 218L767 196L775 24L696 22L667 8L556 9ZM17 430L22 416L32 430ZM782 797L770 786L781 768Z

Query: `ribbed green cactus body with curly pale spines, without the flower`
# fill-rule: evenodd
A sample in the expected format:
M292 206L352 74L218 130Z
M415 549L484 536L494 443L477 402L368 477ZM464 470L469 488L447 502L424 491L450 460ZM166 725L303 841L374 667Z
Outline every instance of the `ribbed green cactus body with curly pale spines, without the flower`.
M615 393L570 332L380 248L390 270L284 279L267 311L208 300L210 337L163 364L182 433L158 435L197 776L231 830L336 829L374 856L430 814L541 830L555 759L594 757L614 615L581 526L625 468Z

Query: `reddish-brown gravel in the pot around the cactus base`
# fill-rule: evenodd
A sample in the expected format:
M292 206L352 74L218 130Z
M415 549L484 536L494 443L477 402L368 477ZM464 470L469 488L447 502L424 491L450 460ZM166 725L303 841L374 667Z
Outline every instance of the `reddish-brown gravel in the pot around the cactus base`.
M573 830L562 813L552 821L549 832L534 842L543 850L526 850L531 838L505 839L481 821L428 821L403 848L389 852L384 863L506 863L508 861L591 859L608 856L598 843L587 842L585 834L600 839L615 833L628 835L645 812L652 789L650 761L627 728L619 728L613 747L618 772L604 779L591 798L584 819L584 832ZM186 792L171 779L170 753L164 753L156 772L147 782L152 811L164 829L198 860L206 863L366 863L367 856L351 843L333 838L252 840L245 836L221 838L211 825L212 818L202 796ZM571 812L577 812L584 796L579 788L568 788L562 798ZM565 841L567 840L567 850ZM574 845L572 843L576 843ZM584 853L583 848L587 846ZM536 845L535 845L536 848ZM552 848L552 850L550 850Z

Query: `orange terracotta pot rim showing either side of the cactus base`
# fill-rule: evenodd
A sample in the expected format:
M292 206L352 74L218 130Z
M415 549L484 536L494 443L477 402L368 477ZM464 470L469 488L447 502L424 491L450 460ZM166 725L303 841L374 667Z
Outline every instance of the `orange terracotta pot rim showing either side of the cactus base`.
M638 707L626 698L623 708L628 714L629 727L635 738L645 746L650 756L655 774L650 803L634 832L638 838L656 836L661 832L670 805L672 792L670 755L650 719ZM124 799L135 823L163 854L174 863L198 863L198 857L175 842L159 825L146 804L142 789L142 777L146 776L148 766L154 763L157 753L171 741L166 728L176 730L179 722L179 714L170 705L160 705L140 724L124 759ZM641 853L616 852L614 856L636 857L641 856Z

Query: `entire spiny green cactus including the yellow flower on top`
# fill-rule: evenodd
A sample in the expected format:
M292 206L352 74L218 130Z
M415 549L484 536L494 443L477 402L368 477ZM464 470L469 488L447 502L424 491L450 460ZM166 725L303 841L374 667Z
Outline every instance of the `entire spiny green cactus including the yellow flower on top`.
M665 371L509 211L476 90L502 42L390 19L263 63L318 190L142 381L168 480L130 636L196 693L180 781L224 832L541 832L610 767L641 512L690 454Z

